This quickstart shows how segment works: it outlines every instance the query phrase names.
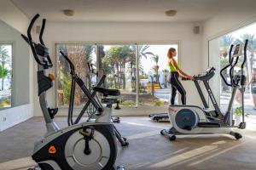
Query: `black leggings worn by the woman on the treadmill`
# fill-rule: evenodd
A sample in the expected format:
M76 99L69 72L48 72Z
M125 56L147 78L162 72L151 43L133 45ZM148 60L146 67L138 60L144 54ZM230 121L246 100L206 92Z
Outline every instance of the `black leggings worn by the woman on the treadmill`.
M171 85L172 85L172 99L171 104L174 105L177 91L181 94L183 105L186 105L186 91L183 85L178 80L179 74L177 71L172 72Z

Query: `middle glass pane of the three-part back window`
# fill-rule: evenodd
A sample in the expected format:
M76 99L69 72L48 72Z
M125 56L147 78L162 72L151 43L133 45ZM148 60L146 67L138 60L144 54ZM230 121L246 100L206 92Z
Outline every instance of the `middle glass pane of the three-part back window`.
M97 54L107 88L121 91L121 105L136 105L136 46L99 45Z

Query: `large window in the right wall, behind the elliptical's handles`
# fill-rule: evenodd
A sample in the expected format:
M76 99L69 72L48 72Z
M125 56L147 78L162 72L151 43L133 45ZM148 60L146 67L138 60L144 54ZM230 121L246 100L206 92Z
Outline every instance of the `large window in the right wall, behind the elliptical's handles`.
M231 88L226 86L224 81L219 76L219 71L227 65L229 62L229 49L231 43L245 42L249 40L247 46L247 65L245 68L247 82L250 82L253 78L253 69L256 68L256 23L250 26L243 27L237 31L230 32L222 37L218 37L209 42L209 66L214 66L217 69L217 74L212 78L211 85L214 89L215 94L218 94L218 101L222 111L226 111L228 103L230 101ZM243 58L241 58L242 60ZM235 68L235 71L239 71L241 60ZM226 72L228 77L228 72ZM255 76L254 76L255 79ZM245 88L245 108L247 114L253 113L255 108L255 97L253 99L252 94L253 85L248 85ZM234 106L238 108L241 105L241 93L237 90Z

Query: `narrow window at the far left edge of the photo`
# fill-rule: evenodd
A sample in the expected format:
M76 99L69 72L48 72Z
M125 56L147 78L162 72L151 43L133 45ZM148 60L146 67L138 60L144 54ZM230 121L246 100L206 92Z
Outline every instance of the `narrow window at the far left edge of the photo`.
M0 44L0 109L11 107L12 45Z

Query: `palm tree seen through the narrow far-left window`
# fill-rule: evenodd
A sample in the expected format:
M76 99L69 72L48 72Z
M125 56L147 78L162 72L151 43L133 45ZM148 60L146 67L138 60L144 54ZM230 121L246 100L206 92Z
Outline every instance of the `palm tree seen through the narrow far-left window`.
M1 79L2 79L2 90L3 90L3 81L4 81L4 78L8 75L9 73L9 70L5 68L5 65L7 63L9 63L10 61L10 56L8 54L8 49L5 48L4 45L0 45L0 62L1 62Z

